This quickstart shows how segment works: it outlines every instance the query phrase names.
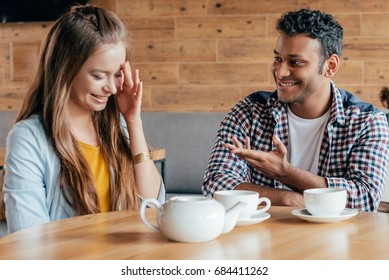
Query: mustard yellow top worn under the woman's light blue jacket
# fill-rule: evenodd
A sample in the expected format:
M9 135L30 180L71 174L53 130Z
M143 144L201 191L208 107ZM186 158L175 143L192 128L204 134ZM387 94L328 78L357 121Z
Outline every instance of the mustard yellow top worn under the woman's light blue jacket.
M109 188L109 171L100 147L78 142L84 153L85 159L92 171L100 203L100 211L111 210L111 191Z

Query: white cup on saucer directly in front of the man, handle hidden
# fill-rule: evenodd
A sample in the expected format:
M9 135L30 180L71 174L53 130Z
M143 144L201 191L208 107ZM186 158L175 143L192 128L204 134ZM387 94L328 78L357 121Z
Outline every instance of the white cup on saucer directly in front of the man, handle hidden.
M304 202L312 216L339 216L346 207L347 191L342 188L307 189Z

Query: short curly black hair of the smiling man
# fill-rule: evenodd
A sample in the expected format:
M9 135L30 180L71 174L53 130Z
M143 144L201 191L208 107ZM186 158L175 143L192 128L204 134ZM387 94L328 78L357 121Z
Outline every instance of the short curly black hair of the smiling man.
M318 39L322 55L320 68L331 55L342 55L343 28L330 14L309 9L287 12L278 19L276 28L289 36L303 34Z

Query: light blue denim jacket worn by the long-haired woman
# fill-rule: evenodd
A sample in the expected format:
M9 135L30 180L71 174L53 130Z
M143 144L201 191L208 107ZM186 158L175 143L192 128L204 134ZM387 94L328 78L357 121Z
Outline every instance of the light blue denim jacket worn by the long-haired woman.
M39 116L15 124L6 145L3 192L8 233L78 215L62 194L59 160ZM165 200L163 182L158 200ZM1 230L0 237L4 223Z

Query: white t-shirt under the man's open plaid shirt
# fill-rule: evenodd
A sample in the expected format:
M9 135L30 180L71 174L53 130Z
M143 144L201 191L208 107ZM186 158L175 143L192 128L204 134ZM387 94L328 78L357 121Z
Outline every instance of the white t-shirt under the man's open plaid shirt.
M301 169L317 174L320 146L330 110L317 119L303 119L288 107L288 161Z

